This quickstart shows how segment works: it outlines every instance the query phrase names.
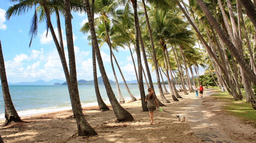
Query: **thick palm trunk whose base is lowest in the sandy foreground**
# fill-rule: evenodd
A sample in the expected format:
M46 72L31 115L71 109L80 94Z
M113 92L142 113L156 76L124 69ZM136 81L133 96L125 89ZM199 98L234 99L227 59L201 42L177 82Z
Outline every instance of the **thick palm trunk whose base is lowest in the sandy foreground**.
M82 112L82 105L80 103L77 78L76 78L76 66L75 66L75 50L71 23L71 11L70 11L70 0L64 0L64 12L65 12L65 27L66 27L66 38L69 55L69 68L70 68L70 83L73 93L73 99L75 101L75 119L78 128L78 135L97 135L95 130L86 121Z

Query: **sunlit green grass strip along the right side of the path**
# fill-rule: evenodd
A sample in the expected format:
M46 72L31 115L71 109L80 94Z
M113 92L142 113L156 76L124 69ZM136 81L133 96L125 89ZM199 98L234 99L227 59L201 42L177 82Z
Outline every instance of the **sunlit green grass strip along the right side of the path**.
M256 110L252 108L251 103L246 103L244 89L242 90L244 98L239 101L234 101L233 96L229 95L227 91L216 90L214 92L218 94L212 94L210 97L222 99L219 101L227 103L223 106L224 111L256 126Z

